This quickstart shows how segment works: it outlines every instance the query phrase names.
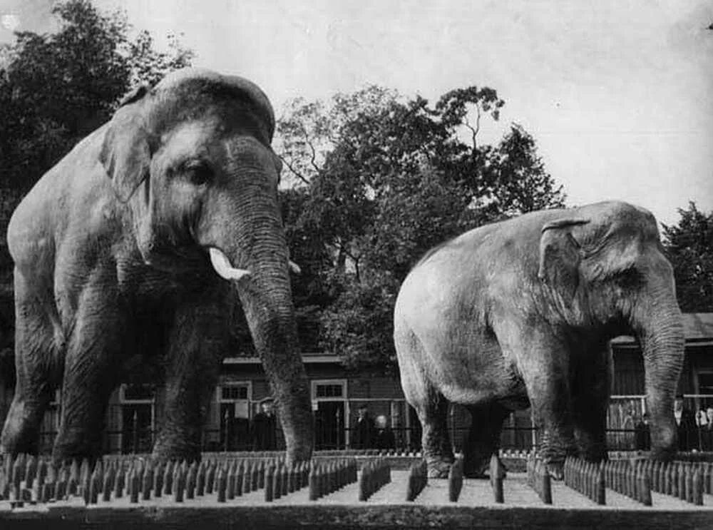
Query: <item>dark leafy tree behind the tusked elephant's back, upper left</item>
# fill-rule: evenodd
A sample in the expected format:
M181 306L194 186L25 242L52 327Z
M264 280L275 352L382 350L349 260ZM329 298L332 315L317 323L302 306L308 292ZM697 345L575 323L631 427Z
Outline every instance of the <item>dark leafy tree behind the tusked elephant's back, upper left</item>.
M0 186L29 190L73 145L116 109L137 83L154 83L193 56L172 37L170 53L145 31L130 39L120 13L101 14L88 0L52 9L55 34L16 34L0 70Z

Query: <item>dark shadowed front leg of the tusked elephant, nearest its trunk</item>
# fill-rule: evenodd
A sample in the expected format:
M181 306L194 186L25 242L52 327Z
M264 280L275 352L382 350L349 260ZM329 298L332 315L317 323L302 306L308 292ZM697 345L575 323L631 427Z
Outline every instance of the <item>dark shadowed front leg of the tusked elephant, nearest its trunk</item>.
M158 395L158 460L200 460L202 427L215 396L220 362L229 348L225 312L186 305L176 312Z

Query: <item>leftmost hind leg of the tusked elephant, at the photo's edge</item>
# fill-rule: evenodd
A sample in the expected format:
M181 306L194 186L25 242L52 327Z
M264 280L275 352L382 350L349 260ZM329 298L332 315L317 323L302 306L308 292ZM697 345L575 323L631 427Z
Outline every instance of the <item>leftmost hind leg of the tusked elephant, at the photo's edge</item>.
M39 452L45 410L61 377L54 326L15 272L15 394L0 435L0 454Z

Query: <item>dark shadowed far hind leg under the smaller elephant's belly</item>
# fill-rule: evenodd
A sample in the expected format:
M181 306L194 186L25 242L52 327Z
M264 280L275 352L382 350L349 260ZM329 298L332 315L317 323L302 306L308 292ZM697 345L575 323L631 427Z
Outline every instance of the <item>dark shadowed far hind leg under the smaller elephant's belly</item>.
M471 429L464 451L463 474L470 478L486 476L493 454L500 449L503 421L510 412L500 404L468 407L471 412Z

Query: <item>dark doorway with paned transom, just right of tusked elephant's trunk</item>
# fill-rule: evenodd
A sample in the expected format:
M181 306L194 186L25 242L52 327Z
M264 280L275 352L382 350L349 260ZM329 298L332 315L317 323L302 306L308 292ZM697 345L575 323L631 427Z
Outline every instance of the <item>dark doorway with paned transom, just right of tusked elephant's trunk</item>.
M344 419L349 417L348 407L346 379L312 381L316 449L347 447Z

